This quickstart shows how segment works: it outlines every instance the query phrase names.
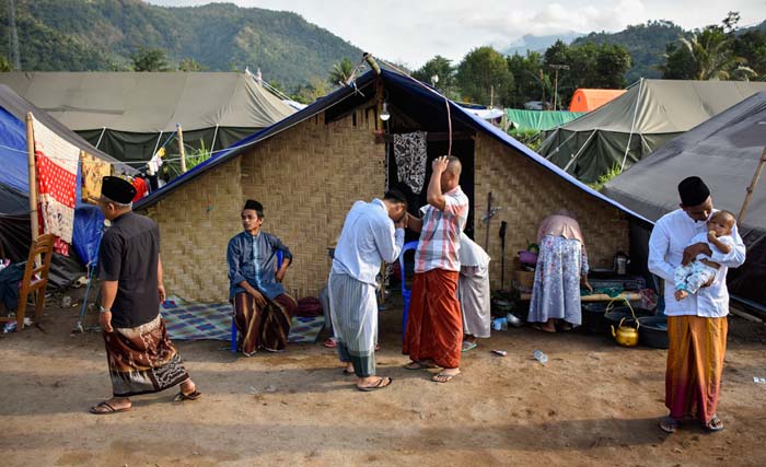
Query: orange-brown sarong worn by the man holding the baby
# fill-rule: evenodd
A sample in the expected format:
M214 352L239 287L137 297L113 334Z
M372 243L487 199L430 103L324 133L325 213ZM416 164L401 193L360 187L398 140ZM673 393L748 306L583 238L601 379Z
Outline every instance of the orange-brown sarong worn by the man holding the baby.
M716 415L728 329L726 317L668 317L665 406L672 418L696 415L707 423Z

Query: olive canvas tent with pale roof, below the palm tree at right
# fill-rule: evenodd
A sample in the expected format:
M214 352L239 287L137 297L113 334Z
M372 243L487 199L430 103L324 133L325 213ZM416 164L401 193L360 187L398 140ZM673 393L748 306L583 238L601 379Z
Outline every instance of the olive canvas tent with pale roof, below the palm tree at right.
M585 183L625 168L758 91L743 81L640 80L628 92L545 135L539 153Z

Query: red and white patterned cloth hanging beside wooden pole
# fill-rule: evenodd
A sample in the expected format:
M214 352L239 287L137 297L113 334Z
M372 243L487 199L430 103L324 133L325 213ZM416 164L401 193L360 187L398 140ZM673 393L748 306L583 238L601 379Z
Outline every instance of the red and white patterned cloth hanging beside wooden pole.
M40 233L56 235L54 249L69 256L74 223L80 150L33 119Z

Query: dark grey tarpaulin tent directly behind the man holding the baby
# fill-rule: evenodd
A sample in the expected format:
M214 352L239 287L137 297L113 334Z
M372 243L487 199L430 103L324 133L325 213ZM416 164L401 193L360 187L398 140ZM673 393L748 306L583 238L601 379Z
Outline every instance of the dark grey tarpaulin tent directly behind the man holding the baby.
M652 221L678 207L676 186L700 176L716 208L735 214L766 147L766 92L670 141L614 178L604 194ZM729 270L732 294L766 306L766 180L756 186L740 233L747 246L745 264Z

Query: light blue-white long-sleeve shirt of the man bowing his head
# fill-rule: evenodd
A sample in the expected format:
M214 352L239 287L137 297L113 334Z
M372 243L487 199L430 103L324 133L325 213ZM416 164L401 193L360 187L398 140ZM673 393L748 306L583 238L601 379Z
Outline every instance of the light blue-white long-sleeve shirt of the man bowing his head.
M335 247L333 272L374 285L381 261L394 262L403 245L404 229L394 227L383 201L357 201L346 215Z

